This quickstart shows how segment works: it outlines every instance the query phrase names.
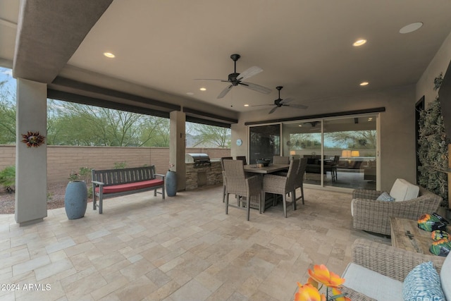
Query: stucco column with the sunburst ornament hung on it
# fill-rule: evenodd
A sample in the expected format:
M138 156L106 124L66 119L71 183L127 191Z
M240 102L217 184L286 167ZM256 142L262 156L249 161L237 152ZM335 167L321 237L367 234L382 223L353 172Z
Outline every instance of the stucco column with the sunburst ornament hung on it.
M47 216L47 143L27 147L22 142L27 132L47 136L47 85L18 78L16 108L15 214L26 226Z

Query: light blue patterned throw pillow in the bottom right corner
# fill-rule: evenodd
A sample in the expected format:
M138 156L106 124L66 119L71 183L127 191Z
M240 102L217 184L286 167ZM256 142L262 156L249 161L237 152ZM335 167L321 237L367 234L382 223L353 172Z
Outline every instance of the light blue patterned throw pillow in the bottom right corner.
M432 262L419 264L407 274L402 297L405 301L446 301Z

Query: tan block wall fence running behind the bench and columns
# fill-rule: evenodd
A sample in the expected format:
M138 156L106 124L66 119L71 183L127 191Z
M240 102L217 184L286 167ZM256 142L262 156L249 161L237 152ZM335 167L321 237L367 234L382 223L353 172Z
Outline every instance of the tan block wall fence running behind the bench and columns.
M47 147L47 183L67 183L69 174L80 167L109 169L125 162L126 167L155 165L157 173L166 173L169 167L168 147ZM33 148L28 149L30 156ZM210 159L230 156L230 149L187 148L186 153L208 154ZM16 146L0 145L0 171L16 165Z

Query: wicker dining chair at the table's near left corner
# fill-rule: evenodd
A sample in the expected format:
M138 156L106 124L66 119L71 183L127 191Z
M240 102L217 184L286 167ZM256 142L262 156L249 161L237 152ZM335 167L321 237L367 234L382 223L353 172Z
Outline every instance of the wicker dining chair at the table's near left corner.
M261 177L251 176L246 178L242 160L224 160L223 165L224 173L226 173L226 214L228 214L229 206L245 209L247 221L249 221L252 198L255 199L261 213ZM236 205L229 204L229 195L236 195ZM245 207L242 207L243 204Z

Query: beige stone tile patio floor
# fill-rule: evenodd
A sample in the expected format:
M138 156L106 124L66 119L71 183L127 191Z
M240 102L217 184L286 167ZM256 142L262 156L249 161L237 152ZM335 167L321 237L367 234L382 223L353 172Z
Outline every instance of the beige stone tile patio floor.
M63 208L19 227L0 215L0 300L292 300L307 269L341 274L356 238L351 195L304 188L297 211L225 214L222 186L154 197L143 192L88 204L84 218Z

